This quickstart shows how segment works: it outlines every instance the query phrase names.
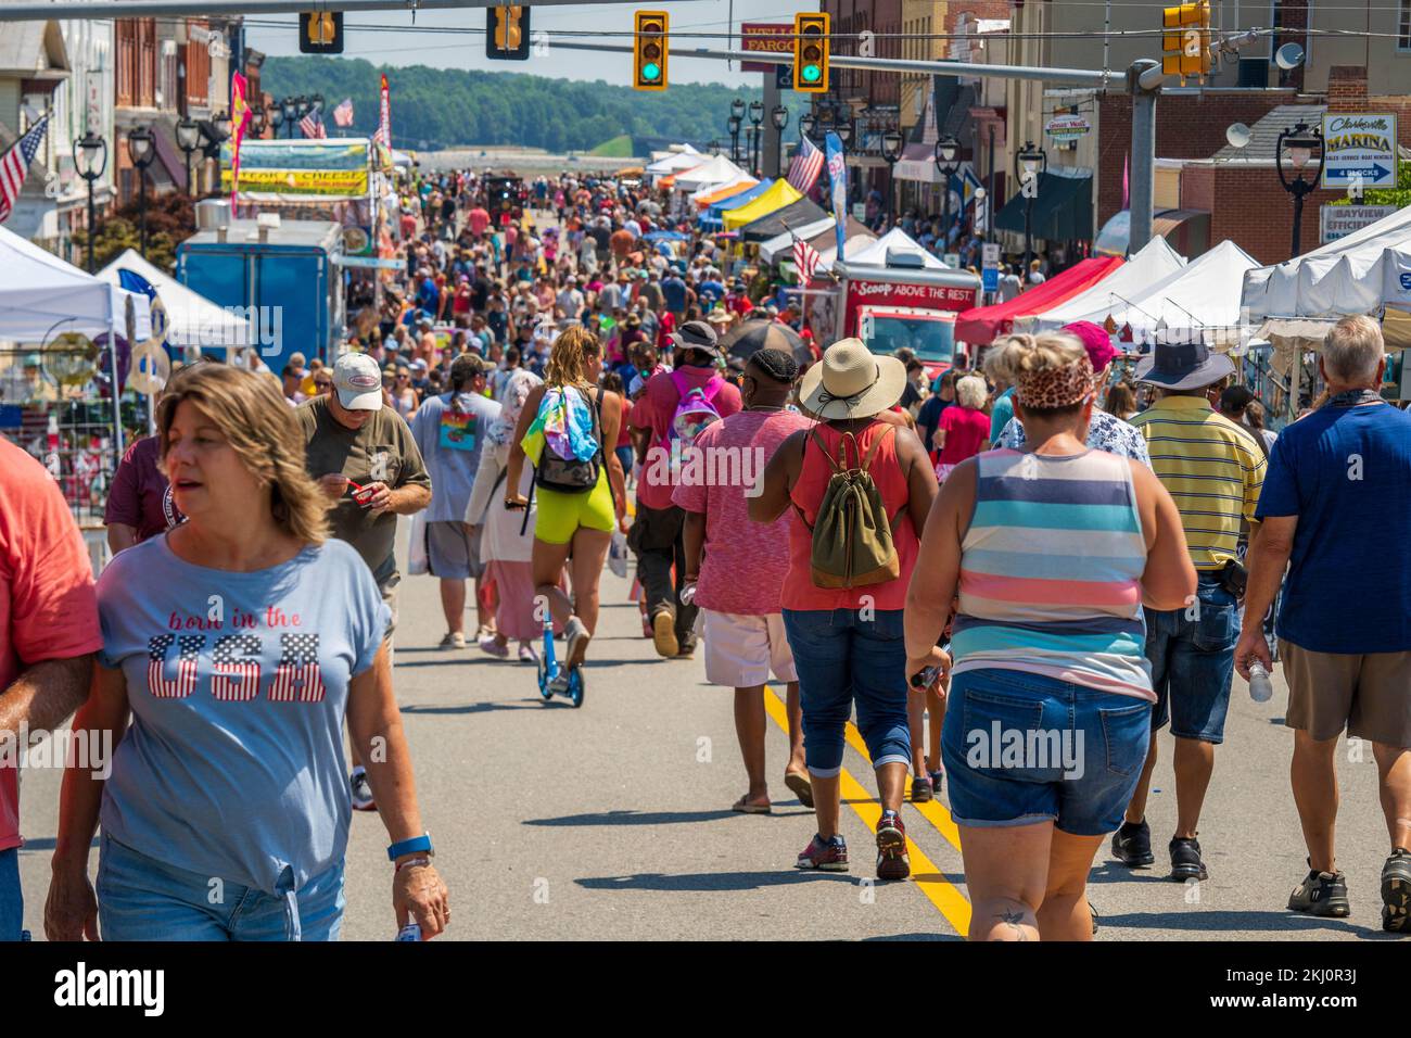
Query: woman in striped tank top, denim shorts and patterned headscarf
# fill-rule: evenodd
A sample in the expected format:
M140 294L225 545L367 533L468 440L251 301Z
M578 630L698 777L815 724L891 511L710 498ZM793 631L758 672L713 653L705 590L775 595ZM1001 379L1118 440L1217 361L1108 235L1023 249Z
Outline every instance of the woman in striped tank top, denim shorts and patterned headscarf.
M941 753L961 832L974 941L1085 941L1092 857L1150 739L1141 606L1195 593L1171 496L1084 441L1092 364L1067 333L986 357L1017 387L1026 449L958 465L921 538L906 600L920 672L959 590Z

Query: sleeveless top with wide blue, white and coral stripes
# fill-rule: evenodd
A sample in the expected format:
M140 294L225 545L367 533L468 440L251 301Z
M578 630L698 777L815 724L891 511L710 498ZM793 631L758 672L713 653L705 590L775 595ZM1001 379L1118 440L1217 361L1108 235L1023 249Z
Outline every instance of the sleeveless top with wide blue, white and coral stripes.
M954 671L1029 671L1154 702L1127 460L989 451L978 463Z

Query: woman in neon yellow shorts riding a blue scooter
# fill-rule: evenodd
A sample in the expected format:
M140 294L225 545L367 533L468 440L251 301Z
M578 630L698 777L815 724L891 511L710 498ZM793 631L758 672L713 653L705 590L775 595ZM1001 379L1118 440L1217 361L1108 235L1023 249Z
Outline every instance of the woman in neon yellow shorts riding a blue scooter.
M519 473L525 452L521 441L539 414L539 401L550 388L579 391L588 407L601 415L598 439L598 482L586 494L567 494L536 487L539 511L535 518L533 569L535 592L549 603L555 621L564 624L569 640L566 665L577 667L587 654L588 640L598 626L598 580L602 562L612 544L614 527L622 528L626 517L626 480L617 453L604 451L602 443L617 443L622 422L622 404L615 393L598 387L602 373L602 345L581 325L574 325L553 342L545 384L525 400L509 446L509 470L505 486L507 508L522 508L528 500L519 494ZM611 483L610 483L611 480ZM571 552L571 561L570 561ZM564 565L573 578L573 600L559 589L559 575Z

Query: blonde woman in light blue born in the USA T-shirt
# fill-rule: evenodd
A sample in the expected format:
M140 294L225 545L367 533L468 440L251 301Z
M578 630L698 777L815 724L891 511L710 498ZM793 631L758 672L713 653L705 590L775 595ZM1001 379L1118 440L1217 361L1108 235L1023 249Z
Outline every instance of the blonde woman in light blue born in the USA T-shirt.
M106 781L63 777L45 932L337 939L346 722L391 842L388 936L409 919L436 936L450 909L392 696L388 607L357 552L326 538L293 412L272 380L198 363L166 387L158 436L186 523L99 580L103 651L73 729L117 751Z

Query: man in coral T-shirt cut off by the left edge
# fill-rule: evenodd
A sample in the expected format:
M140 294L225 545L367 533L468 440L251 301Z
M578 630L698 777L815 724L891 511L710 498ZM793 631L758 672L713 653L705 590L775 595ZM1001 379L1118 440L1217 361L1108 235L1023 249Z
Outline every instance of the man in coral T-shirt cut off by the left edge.
M20 941L14 740L52 732L78 709L103 638L93 568L58 484L4 436L0 482L0 941Z

